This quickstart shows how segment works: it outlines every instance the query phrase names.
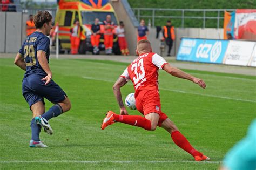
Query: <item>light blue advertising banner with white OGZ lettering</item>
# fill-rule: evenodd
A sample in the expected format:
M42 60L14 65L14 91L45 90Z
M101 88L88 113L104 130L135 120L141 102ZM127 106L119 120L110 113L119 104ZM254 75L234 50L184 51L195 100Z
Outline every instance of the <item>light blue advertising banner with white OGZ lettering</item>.
M182 38L177 60L222 64L228 40Z

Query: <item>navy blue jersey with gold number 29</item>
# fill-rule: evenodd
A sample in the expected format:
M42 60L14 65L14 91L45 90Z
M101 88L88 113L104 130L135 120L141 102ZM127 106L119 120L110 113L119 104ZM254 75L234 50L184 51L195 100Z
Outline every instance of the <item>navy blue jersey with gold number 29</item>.
M42 32L33 32L26 38L19 53L24 56L26 63L26 72L24 77L30 74L38 74L41 76L46 76L47 74L42 69L41 65L37 59L37 51L43 51L46 53L46 58L49 63L50 56L50 39L45 36Z

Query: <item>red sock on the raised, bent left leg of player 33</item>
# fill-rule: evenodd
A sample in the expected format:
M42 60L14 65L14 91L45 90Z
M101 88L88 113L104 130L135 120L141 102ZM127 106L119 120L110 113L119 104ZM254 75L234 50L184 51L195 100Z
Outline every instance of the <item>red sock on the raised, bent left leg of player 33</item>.
M124 124L142 127L147 131L151 130L151 121L139 115L119 115L114 114L114 120Z

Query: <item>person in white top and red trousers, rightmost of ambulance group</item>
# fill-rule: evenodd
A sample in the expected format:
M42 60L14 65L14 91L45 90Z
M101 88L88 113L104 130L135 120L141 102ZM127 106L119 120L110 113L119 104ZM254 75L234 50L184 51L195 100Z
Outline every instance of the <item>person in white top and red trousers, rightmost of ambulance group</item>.
M129 55L129 50L127 48L127 42L124 33L124 22L120 21L120 25L116 28L116 35L118 37L118 45L120 47L120 51L122 55L126 56Z

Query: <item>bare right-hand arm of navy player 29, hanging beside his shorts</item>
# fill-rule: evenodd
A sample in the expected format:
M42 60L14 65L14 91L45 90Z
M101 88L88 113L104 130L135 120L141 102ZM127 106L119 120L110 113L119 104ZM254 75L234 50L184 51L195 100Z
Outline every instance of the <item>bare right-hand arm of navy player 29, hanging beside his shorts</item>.
M43 51L37 51L37 59L39 64L41 65L41 67L44 69L44 71L46 72L47 76L45 76L45 78L43 78L43 81L46 81L44 85L48 84L51 79L52 79L52 72L51 69L49 67L48 61L46 59L46 54Z

